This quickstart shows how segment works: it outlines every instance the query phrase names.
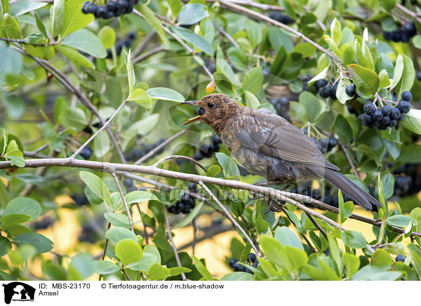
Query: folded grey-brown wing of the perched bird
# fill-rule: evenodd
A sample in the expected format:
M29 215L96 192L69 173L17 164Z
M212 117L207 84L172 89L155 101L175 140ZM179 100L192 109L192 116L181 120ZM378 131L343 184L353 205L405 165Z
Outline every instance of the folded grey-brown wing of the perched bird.
M314 141L300 128L276 114L247 109L235 117L232 127L241 145L262 155L339 170L324 159Z

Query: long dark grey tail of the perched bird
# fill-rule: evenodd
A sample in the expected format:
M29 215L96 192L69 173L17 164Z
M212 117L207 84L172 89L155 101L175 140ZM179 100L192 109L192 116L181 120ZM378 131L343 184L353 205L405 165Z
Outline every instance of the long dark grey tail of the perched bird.
M319 172L319 171L318 171ZM317 173L322 178L330 182L331 185L340 189L343 193L347 194L348 197L353 199L356 204L366 208L368 211L377 211L377 207L382 207L382 204L375 199L371 194L358 187L357 185L349 180L345 175L339 171L325 168L324 173Z

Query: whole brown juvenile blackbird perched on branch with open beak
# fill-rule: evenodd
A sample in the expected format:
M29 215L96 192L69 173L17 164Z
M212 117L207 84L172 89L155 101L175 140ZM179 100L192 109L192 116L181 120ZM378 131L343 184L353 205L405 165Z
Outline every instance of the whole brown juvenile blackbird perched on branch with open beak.
M232 158L250 173L288 184L309 178L323 178L369 211L382 207L377 199L339 172L323 157L314 141L286 119L269 109L243 107L227 95L215 93L199 101L200 120L218 134Z

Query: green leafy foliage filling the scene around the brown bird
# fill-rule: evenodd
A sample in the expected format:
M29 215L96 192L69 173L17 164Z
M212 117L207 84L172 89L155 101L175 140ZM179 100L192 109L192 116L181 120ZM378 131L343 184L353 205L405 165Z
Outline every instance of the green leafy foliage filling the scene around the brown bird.
M339 145L325 152L327 159L383 204L373 215L375 240L366 241L359 231L339 230L316 218L321 230L291 204L283 203L283 214L267 212L265 199L213 185L264 254L257 267L249 265L251 246L237 229L240 239L232 241L232 258L253 274L233 272L221 280L421 279L421 76L415 78L421 39L417 34L393 42L382 36L408 20L419 32L419 14L413 12L420 8L394 0L269 0L253 1L250 7L224 0L140 2L132 13L102 20L82 13L83 0L18 0L10 6L1 0L0 165L10 161L14 167L0 167L1 280L32 279L32 267L40 262L42 272L36 277L41 279L83 280L101 274L105 279L214 280L205 260L191 253L178 252L180 267L168 240L167 207L180 199L168 190L187 192L188 182L160 178L157 185L166 188L151 191L145 187L154 180L133 185L133 177L126 178L122 199L115 173L106 168L102 173L95 167L25 167L31 157L71 157L110 118L110 128L76 159L136 161L152 151L150 144L175 135L185 119L195 116L196 109L179 102L212 92L278 114L270 98L287 96L288 114L282 115L315 140L326 138L325 131L338 139ZM267 5L276 6L293 24L272 19ZM130 32L135 32L135 44L119 41ZM334 88L329 98L318 95L320 80ZM352 84L354 96L346 90ZM405 91L413 94L412 107L399 127L380 131L357 119L367 102L394 107ZM212 135L203 124L191 127L142 163L170 154L192 157L203 151L201 145L212 143ZM261 179L244 174L223 147L201 162L209 177L248 183ZM169 161L161 168L203 174L186 162ZM398 185L402 177L410 177L403 186ZM321 190L328 194L330 189ZM58 197L63 194L74 201L63 204ZM185 216L170 218L170 226L185 227L199 213L220 211L208 194L201 196ZM354 217L352 201L336 192L330 197L339 214L324 215L346 228ZM138 210L142 220L132 231L128 211L139 206L147 209ZM46 253L60 238L51 241L42 231L51 226L45 225L48 218L59 220L65 209L91 232L79 237L68 254L52 257ZM405 255L404 262L395 262L397 255ZM65 260L67 256L71 258Z

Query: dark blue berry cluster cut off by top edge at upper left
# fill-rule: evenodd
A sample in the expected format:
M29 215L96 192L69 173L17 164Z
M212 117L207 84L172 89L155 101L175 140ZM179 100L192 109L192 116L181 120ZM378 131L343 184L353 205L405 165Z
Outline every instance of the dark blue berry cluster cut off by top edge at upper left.
M85 1L82 4L82 13L93 14L95 18L110 19L118 17L124 14L131 13L133 6L138 3L139 0L117 0L107 1L105 6L98 6L90 1Z

